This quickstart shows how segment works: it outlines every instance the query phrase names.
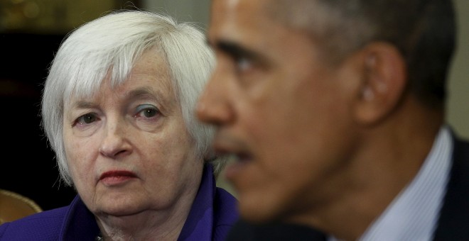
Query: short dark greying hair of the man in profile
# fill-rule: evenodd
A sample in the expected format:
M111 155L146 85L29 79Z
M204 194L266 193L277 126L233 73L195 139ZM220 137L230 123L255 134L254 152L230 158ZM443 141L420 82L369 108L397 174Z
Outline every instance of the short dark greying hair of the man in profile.
M274 0L274 18L305 30L340 62L374 41L397 47L406 61L408 89L421 103L443 108L455 49L451 0Z

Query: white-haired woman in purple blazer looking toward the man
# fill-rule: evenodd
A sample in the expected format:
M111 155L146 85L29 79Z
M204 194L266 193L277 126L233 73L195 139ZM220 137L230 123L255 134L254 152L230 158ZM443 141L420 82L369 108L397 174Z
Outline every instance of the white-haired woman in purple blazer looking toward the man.
M43 127L70 206L0 226L2 240L223 240L236 199L217 188L223 161L194 118L214 58L189 23L119 11L60 46Z

